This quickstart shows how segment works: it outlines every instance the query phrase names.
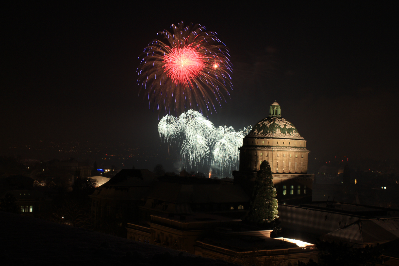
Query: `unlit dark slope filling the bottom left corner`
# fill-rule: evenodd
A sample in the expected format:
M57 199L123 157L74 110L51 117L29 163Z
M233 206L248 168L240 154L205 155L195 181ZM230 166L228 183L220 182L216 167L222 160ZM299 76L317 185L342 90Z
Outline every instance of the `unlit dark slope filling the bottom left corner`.
M237 266L1 211L0 236L1 265Z

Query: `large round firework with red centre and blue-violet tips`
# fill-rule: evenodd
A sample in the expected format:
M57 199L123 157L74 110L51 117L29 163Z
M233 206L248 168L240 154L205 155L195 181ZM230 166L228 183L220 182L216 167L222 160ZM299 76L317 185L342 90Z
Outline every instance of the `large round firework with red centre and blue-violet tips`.
M163 38L149 43L139 57L140 93L149 108L165 114L194 108L212 114L233 87L228 49L199 24L181 22L171 29L158 32Z

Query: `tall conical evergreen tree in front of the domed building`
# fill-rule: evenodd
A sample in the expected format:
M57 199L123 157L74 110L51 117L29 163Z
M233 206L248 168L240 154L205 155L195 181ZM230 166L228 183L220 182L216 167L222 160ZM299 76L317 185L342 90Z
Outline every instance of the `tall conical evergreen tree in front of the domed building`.
M263 161L255 179L249 221L255 224L265 224L279 218L276 196L270 164Z

